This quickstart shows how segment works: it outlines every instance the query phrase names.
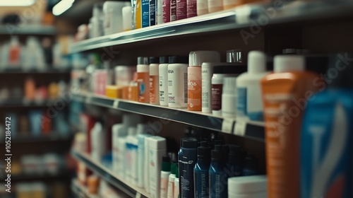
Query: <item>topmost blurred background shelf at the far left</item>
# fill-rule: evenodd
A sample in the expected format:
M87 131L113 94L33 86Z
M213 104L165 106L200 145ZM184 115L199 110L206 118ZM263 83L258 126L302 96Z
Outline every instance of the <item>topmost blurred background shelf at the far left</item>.
M0 35L55 35L56 28L50 25L0 25Z

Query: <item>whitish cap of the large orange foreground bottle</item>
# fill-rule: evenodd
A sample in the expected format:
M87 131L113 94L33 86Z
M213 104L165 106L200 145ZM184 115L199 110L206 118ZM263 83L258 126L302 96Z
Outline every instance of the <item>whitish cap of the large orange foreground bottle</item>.
M275 73L287 71L304 71L305 59L301 55L277 55L273 60Z

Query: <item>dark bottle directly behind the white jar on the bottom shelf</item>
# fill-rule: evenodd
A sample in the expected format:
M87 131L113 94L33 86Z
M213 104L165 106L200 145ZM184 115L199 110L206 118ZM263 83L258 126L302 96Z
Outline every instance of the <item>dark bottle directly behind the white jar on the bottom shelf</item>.
M239 177L243 171L243 153L238 145L229 145L229 156L227 162L227 174L229 177Z

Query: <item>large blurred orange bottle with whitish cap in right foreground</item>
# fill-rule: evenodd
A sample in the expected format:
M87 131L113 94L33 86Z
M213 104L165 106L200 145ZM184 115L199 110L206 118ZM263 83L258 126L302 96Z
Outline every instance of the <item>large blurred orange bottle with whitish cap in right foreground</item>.
M303 56L278 55L273 74L261 80L269 197L299 197L301 105L320 88L318 76L304 68Z

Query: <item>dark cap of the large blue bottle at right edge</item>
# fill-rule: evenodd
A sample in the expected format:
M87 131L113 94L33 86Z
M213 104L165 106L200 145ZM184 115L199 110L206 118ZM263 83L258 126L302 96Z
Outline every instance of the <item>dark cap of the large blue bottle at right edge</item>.
M353 88L353 53L343 52L331 57L326 75L330 88Z

